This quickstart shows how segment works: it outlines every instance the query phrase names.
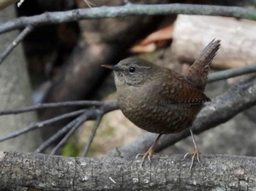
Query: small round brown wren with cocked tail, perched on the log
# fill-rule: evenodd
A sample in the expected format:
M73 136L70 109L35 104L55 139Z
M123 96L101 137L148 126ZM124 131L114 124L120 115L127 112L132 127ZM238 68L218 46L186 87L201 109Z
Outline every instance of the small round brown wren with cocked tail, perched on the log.
M190 128L204 102L211 101L203 90L206 86L208 69L219 50L220 40L211 41L190 66L187 74L181 76L170 69L162 68L140 58L127 58L115 66L102 65L115 74L117 100L121 111L139 128L159 133L152 146L143 155L143 161L154 154L154 146L160 136L178 133ZM195 157L199 161L200 152L195 144L190 128Z

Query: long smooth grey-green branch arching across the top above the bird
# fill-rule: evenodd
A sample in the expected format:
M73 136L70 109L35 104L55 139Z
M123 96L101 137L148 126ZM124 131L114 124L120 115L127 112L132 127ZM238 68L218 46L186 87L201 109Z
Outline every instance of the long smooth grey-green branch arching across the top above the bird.
M135 15L214 15L256 19L254 9L197 4L127 4L118 7L93 7L65 12L45 12L31 17L18 17L0 25L0 34L26 26L44 26L82 19L127 17Z

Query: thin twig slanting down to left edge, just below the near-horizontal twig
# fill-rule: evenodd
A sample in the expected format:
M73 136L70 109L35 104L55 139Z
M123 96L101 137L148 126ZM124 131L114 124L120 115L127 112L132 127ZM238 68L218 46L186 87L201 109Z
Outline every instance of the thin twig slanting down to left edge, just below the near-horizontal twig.
M53 117L53 118L51 118L49 120L45 120L45 121L42 121L42 122L32 123L27 128L23 128L22 130L17 130L17 131L15 131L13 133L8 134L7 136L1 137L0 138L0 142L1 141L5 141L7 139L15 138L16 136L20 136L21 134L27 133L30 130L34 130L36 128L42 128L45 125L50 125L53 122L57 122L59 120L64 120L64 119L67 119L68 117L74 117L74 116L76 116L78 114L81 114L81 113L83 113L85 111L86 111L86 109L81 109L81 110L78 110L78 111L75 111L75 112L70 112L70 113L67 113L67 114L62 114L62 115L60 115L58 117Z

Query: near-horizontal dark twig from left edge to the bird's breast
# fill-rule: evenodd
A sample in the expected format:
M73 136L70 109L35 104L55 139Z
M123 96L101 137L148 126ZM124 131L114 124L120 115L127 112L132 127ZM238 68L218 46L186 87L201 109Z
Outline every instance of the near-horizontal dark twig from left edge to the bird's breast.
M113 107L113 110L118 109L118 105L116 101L103 102L103 101L64 101L59 103L48 103L48 104L36 104L33 106L26 106L20 109L9 109L0 112L0 115L5 114L20 114L24 112L31 112L39 109L46 108L59 108L59 107L67 107L67 106L105 106L106 108Z

